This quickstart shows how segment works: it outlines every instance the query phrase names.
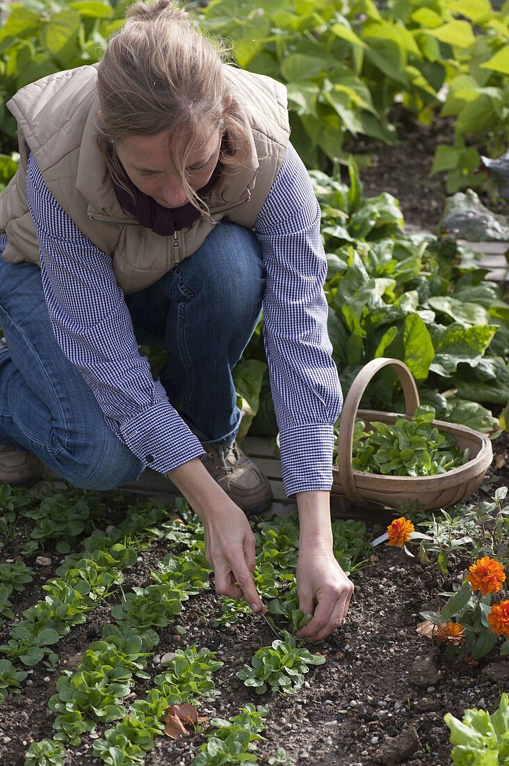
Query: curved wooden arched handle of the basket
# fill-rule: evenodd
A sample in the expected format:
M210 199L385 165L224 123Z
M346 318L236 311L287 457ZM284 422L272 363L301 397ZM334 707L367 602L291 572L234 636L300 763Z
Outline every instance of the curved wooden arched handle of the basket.
M390 359L380 357L372 359L361 369L348 391L347 398L344 400L343 411L341 413L341 424L338 437L338 468L341 486L344 489L348 499L363 504L363 496L357 490L352 473L352 453L354 449L354 426L357 409L361 403L361 398L366 391L368 383L383 367L392 366L400 378L403 396L405 398L406 414L412 416L419 407L419 394L417 392L416 381L413 379L409 368L400 362L400 359Z

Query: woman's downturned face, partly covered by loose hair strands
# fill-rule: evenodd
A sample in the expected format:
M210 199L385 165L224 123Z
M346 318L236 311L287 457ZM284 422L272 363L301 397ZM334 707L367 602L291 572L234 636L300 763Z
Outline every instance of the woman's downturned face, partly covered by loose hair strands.
M186 165L188 183L199 189L217 165L222 134L214 129L191 151ZM184 187L168 158L168 132L156 136L127 136L116 145L120 162L132 183L165 208L180 208L188 201Z

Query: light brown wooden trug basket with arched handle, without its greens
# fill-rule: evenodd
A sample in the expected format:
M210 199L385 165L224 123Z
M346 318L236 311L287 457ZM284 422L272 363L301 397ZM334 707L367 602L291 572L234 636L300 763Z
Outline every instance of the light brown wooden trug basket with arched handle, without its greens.
M417 502L432 510L446 508L464 500L481 485L493 459L488 437L465 426L433 421L433 425L439 430L455 437L460 450L468 447L470 460L447 473L440 473L438 476L380 476L352 468L355 418L360 417L369 426L371 421L394 423L396 417L402 417L392 412L357 409L370 380L388 365L396 370L403 388L406 408L406 415L403 417L410 419L419 407L416 382L403 362L390 358L378 358L368 362L355 378L344 401L338 439L338 469L334 467L332 493L346 496L357 506L389 509L396 509L402 503Z

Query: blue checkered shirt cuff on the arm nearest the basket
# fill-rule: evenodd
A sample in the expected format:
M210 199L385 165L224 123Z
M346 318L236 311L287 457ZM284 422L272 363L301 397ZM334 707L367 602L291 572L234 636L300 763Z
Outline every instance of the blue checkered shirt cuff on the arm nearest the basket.
M332 486L334 429L328 424L302 425L279 434L282 482L287 497Z

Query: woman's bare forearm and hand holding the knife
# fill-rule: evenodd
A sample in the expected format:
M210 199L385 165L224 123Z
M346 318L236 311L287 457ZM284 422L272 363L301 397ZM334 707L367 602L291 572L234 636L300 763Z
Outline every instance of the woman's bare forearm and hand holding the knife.
M244 512L197 457L170 471L168 479L204 524L205 558L214 568L216 592L229 598L244 596L253 611L263 611L253 582L255 538Z

